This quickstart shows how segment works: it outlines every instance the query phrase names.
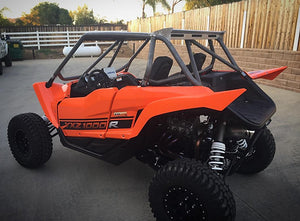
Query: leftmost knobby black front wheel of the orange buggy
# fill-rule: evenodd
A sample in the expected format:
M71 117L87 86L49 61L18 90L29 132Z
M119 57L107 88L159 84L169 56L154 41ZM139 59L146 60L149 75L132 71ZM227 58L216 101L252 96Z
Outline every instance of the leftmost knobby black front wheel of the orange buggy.
M52 153L52 139L44 120L37 114L26 113L13 117L7 130L14 158L27 168L46 163Z

